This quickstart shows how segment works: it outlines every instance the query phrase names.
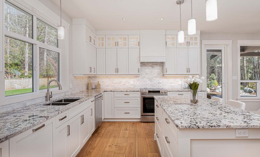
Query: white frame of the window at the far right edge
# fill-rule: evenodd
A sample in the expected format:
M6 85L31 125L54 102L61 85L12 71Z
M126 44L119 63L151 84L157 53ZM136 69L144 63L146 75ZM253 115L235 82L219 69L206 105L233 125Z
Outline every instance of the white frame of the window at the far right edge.
M260 80L241 80L240 73L240 47L241 46L260 46L260 40L237 40L237 100L260 101ZM241 96L241 82L256 82L256 96Z

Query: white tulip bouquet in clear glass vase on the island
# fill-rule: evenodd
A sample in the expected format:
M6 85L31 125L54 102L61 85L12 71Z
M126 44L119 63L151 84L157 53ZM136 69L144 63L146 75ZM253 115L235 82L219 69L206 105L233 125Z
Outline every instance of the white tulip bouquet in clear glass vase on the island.
M199 76L196 75L193 78L189 76L187 79L184 79L183 82L187 83L189 88L191 89L191 103L197 104L197 90L199 88L199 85L203 82L204 77L201 77L199 79Z

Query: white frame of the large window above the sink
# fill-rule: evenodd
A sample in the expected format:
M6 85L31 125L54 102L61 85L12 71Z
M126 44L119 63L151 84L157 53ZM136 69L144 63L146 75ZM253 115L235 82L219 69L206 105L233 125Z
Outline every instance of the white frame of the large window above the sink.
M5 27L3 27L3 38L4 36L11 37L20 41L24 41L27 43L33 44L33 92L31 93L24 93L24 94L18 94L18 95L12 95L12 96L5 96L5 92L0 93L1 98L5 99L4 104L1 105L7 105L12 104L16 102L21 102L25 100L31 100L34 98L40 98L40 97L46 97L47 89L39 89L39 47L42 47L44 49L48 49L51 51L55 51L59 53L59 81L62 85L62 90L58 90L58 87L50 88L50 91L53 92L53 94L61 93L61 92L67 92L69 91L69 47L68 42L68 31L69 31L69 24L64 21L63 19L63 25L65 26L65 39L63 41L58 39L58 47L54 47L45 43L41 43L37 41L36 38L36 22L37 18L40 21L43 21L47 25L57 29L57 26L60 25L60 17L56 15L53 11L51 11L48 7L43 5L41 2L37 0L27 0L21 1L21 0L7 0L7 4L11 3L18 7L19 9L27 12L28 14L32 15L32 39L27 38L25 36L10 32L5 30ZM5 1L3 1L3 6L1 9L2 11L2 17L3 17L3 25L4 25L4 4ZM4 45L4 40L3 40ZM62 50L62 51L61 51ZM3 46L3 53L4 53L4 46ZM4 61L4 55L3 55L3 61ZM4 62L3 62L4 63ZM4 64L3 64L4 65ZM36 70L35 70L36 69ZM4 67L3 67L4 70ZM61 79L63 78L63 79ZM4 79L4 77L2 78ZM1 80L1 79L0 79ZM4 81L3 81L4 82ZM4 84L4 83L3 83ZM2 85L3 85L2 84ZM3 86L4 87L4 86ZM4 95L3 95L4 94Z

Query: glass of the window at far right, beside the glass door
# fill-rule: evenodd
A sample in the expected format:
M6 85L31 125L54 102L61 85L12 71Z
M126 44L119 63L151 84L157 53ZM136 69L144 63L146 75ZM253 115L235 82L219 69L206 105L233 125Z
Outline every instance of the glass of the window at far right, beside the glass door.
M260 46L240 47L240 96L260 96Z

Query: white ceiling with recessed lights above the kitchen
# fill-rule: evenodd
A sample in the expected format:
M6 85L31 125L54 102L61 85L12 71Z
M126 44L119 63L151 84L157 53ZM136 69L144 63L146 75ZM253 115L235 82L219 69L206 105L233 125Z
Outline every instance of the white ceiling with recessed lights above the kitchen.
M59 0L52 1L59 6ZM217 4L218 19L206 21L205 0L193 0L197 30L260 33L260 0L217 0ZM96 30L180 29L175 0L62 0L62 9L72 18L87 19ZM181 13L182 29L187 30L191 0L184 0ZM160 17L165 19L160 21Z

